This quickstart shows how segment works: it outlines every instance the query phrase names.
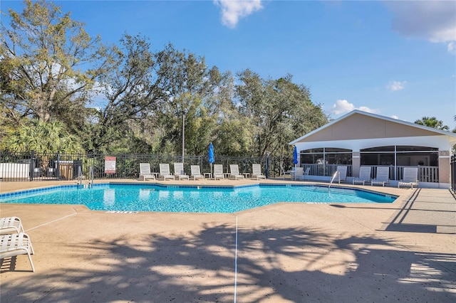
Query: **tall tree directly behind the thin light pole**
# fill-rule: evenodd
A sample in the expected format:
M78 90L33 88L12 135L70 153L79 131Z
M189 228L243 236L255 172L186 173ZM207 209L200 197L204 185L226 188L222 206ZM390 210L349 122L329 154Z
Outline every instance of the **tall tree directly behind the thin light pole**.
M155 58L160 89L167 95L160 103L158 118L164 134L162 148L180 154L183 131L186 152L200 154L207 149L216 126L214 85L219 85L223 77L217 70L209 70L203 57L177 50L172 44Z

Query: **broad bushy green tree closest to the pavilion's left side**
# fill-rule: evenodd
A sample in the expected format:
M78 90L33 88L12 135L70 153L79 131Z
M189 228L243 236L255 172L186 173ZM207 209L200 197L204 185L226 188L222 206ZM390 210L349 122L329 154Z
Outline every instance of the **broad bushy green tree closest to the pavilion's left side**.
M264 80L244 70L238 76L239 110L252 129L257 156L266 151L284 154L293 139L328 122L321 107L311 102L307 87L294 84L291 75Z

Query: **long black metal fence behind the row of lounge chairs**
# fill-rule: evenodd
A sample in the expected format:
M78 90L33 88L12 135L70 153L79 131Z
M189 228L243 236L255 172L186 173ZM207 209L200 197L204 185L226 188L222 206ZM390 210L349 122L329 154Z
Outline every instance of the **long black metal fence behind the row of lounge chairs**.
M185 155L184 170L190 174L190 165L199 165L201 172L209 172L208 156ZM160 163L182 162L182 155L171 154L52 154L11 153L0 151L1 181L72 180L79 172L88 178L90 167L95 179L135 179L139 177L140 163L149 163L152 172L158 172ZM112 166L115 163L115 166ZM272 156L218 156L215 163L222 164L225 172L229 164L238 164L239 172L252 174L252 164L261 164L261 171L269 178L281 176L291 169L292 158ZM110 164L110 165L108 165ZM113 169L115 167L115 169Z

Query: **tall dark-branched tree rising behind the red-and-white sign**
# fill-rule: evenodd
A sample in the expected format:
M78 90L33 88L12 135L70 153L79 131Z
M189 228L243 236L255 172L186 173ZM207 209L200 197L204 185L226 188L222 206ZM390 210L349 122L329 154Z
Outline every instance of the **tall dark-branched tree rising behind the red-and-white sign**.
M157 85L154 68L147 38L125 34L120 46L112 47L110 68L100 75L98 86L106 103L93 112L83 129L90 134L85 140L89 151L112 152L122 144L129 147L125 138L135 137L135 129L136 134L138 128L144 129L142 121L150 119L157 102L166 97Z

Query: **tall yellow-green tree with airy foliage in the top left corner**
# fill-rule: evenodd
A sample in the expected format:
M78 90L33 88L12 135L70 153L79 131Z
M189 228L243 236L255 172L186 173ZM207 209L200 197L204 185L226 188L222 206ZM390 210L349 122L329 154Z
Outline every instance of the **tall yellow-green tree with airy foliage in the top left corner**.
M83 110L95 78L103 73L104 48L84 24L50 1L24 1L0 23L0 102L11 123L22 117L47 122L63 107ZM68 107L68 105L71 105Z

